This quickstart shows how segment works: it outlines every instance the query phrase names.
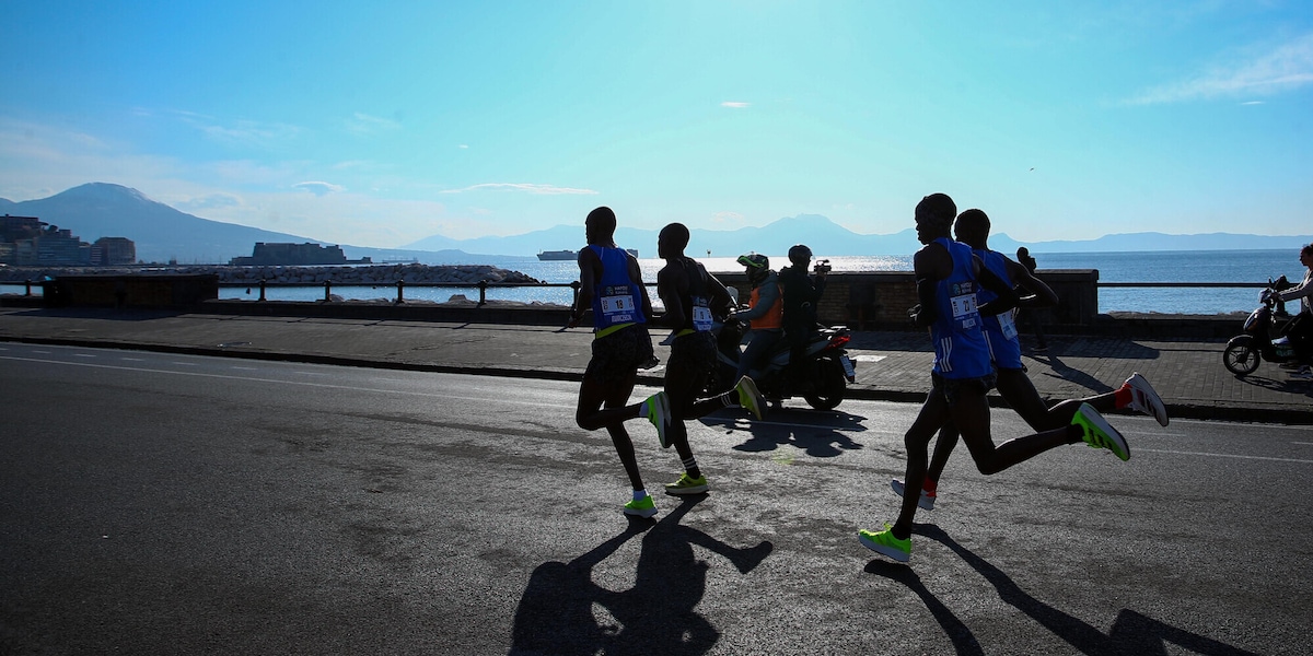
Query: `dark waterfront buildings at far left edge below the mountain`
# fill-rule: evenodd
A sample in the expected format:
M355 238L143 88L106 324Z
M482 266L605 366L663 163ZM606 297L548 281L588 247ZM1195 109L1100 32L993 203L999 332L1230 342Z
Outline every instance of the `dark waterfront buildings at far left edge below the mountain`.
M126 237L83 241L35 216L0 216L0 264L14 266L110 266L137 262L137 244Z

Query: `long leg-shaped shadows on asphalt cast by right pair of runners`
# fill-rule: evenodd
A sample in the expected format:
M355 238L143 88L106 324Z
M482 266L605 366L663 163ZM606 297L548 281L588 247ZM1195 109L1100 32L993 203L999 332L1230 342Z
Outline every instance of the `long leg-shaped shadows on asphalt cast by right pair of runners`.
M1212 638L1176 628L1130 609L1121 609L1112 623L1112 628L1108 634L1103 634L1094 626L1032 597L1003 573L1002 569L957 543L957 541L948 537L939 526L919 523L915 526L915 533L947 546L994 585L1001 600L1029 615L1081 653L1166 655L1169 643L1203 655L1253 653L1213 640ZM910 567L877 560L868 564L867 571L899 581L922 597L922 600L926 600L926 606L935 615L935 619L939 621L940 626L944 627L944 631L957 648L957 653L982 653L970 630L951 610L944 607L934 594L926 590L924 585L920 584L920 579L911 572Z

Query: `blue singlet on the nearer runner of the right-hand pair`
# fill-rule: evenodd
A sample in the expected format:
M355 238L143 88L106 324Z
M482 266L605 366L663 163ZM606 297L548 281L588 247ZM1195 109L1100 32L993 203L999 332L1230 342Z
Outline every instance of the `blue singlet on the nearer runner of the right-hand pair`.
M935 373L952 379L983 378L994 373L989 358L989 342L981 327L981 314L976 308L976 289L979 283L972 269L972 248L966 244L939 237L934 241L948 249L953 258L953 272L937 282L935 290L936 319L930 327L935 341Z

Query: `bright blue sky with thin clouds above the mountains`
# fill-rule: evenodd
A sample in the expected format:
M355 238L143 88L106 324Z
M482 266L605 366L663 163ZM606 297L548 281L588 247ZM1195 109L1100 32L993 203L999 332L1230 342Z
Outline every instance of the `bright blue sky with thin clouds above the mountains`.
M0 197L393 248L579 224L1306 235L1306 1L5 3ZM751 248L744 244L744 248Z

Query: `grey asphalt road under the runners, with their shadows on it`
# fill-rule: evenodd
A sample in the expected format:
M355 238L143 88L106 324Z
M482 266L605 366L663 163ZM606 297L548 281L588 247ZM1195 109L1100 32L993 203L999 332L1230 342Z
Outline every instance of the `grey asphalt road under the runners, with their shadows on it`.
M693 422L712 493L639 521L575 392L0 345L0 655L1308 648L1313 429L1119 416L1129 463L995 476L964 450L909 567L856 531L897 512L916 405ZM660 489L676 455L630 432Z

